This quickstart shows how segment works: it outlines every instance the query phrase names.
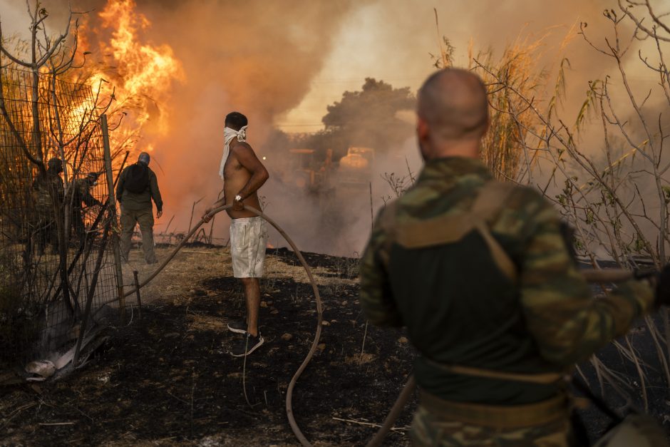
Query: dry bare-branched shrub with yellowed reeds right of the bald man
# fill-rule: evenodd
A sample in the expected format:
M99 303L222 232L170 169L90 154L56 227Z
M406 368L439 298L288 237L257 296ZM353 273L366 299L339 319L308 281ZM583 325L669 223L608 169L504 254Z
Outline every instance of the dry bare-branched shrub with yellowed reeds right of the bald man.
M607 9L603 16L609 31L599 29L592 32L598 35L589 35L586 24L581 24L573 35L581 34L595 53L607 56L614 72L589 82L574 123L557 108L569 59L559 52L550 62L553 70L540 66L542 39L519 38L498 59L491 51L470 56L470 68L488 87L492 111L483 160L501 180L537 187L554 202L565 220L576 227L577 252L594 267L609 258L623 268L639 268L640 261L660 268L668 261L670 247L670 186L666 180L670 172L666 124L670 68L664 54L670 25L666 14L654 14L648 0L619 0L619 9ZM641 41L651 45L642 46ZM444 57L445 51L440 53L441 66L448 66L450 57ZM633 61L629 59L633 58L627 53L658 79L651 91L637 93L632 88ZM552 71L557 74L548 76ZM639 78L639 72L634 76ZM659 101L647 101L650 97ZM599 135L602 138L587 145L583 141L587 132L597 135L596 140ZM670 316L667 310L662 312L664 327L651 318L645 323L667 389ZM609 370L594 356L592 364L601 387L604 382L613 389L632 386L646 407L649 381L639 354L629 336L614 346L630 363L637 380Z

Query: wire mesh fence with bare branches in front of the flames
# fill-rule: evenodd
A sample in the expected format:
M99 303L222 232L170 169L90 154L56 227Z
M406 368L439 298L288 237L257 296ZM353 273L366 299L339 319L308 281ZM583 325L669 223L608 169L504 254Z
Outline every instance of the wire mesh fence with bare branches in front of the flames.
M0 69L0 366L73 338L118 292L91 88Z

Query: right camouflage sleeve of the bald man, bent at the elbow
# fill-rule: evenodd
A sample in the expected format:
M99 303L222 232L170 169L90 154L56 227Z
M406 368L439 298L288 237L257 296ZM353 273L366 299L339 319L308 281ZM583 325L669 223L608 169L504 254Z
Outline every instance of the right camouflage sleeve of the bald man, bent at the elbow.
M542 356L568 366L628 332L634 319L653 306L654 292L646 281L629 281L607 297L592 298L568 253L556 210L539 195L530 207L520 275L522 307Z

